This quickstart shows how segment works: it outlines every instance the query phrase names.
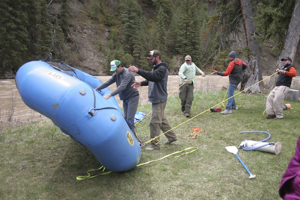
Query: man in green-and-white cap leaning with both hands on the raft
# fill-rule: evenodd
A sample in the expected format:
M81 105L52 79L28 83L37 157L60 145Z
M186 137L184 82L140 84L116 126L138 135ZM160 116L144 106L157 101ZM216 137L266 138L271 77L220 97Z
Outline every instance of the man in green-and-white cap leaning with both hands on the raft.
M131 129L135 132L134 116L137 112L140 94L136 88L131 87L135 81L134 73L128 72L128 69L123 67L119 60L111 61L110 67L110 71L115 71L115 73L110 79L95 88L95 90L102 90L116 82L117 88L110 94L104 96L104 98L109 99L110 97L119 94L120 100L123 100L124 118L131 122Z

